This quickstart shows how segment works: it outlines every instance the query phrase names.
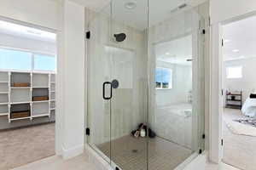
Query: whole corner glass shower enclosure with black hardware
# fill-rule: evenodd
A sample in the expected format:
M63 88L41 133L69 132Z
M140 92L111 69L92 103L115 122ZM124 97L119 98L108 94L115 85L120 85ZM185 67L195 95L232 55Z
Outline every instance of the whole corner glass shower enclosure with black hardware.
M88 11L87 142L113 169L183 168L204 150L207 1Z

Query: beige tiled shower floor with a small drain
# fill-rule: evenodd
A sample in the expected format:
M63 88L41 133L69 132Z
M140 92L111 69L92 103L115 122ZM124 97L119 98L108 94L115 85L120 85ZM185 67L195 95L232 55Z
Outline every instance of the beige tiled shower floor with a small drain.
M110 156L109 143L98 148ZM192 154L192 150L158 137L149 139L148 151L146 139L132 136L113 140L111 150L113 162L123 170L172 170Z

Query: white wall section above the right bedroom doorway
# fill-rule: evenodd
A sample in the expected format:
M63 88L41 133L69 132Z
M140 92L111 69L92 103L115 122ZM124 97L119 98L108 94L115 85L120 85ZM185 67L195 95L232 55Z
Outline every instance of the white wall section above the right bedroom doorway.
M210 2L212 24L256 11L255 0L210 0Z

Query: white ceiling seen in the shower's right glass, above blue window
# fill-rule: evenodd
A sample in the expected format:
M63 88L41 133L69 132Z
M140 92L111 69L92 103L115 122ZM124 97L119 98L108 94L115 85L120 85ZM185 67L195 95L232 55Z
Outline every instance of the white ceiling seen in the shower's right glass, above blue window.
M155 56L159 61L177 65L191 65L187 59L192 59L192 36L182 37L170 42L155 45Z

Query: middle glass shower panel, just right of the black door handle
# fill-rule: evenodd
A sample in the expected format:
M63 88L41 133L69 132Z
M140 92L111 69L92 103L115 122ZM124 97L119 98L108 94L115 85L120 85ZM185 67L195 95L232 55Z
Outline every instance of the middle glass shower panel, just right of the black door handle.
M111 100L111 158L122 170L147 169L147 7L148 0L112 1L108 49L119 87Z

